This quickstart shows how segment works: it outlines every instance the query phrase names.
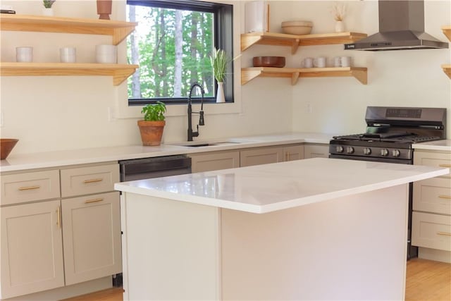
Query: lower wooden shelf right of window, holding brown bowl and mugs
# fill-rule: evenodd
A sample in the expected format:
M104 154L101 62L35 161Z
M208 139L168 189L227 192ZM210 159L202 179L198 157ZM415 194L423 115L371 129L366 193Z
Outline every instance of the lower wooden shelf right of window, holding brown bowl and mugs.
M247 84L257 77L269 78L291 78L291 84L295 85L299 78L326 78L352 76L367 84L367 70L362 67L340 67L340 68L273 68L252 67L241 69L241 85Z

